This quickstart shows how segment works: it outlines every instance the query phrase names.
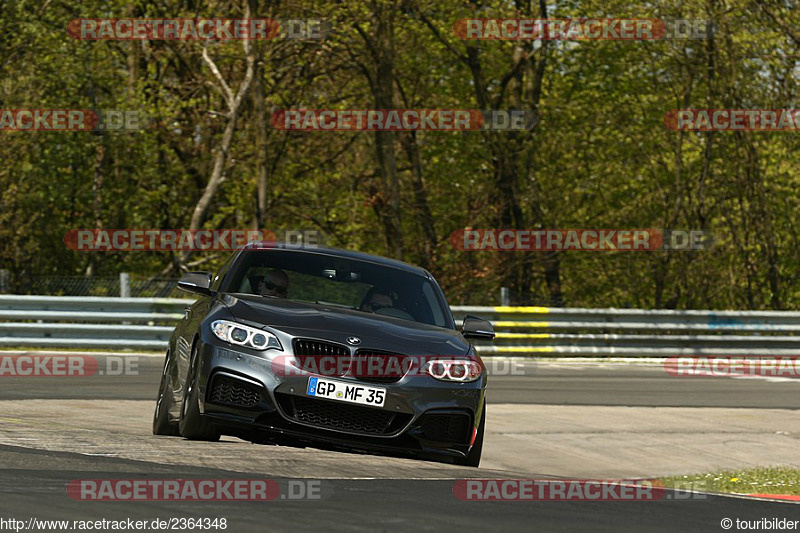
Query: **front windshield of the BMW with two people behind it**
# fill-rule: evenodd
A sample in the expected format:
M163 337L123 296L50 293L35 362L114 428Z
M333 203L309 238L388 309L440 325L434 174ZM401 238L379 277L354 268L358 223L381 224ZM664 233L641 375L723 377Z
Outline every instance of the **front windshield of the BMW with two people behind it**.
M343 307L447 327L442 302L424 276L326 254L287 250L244 252L226 276L225 291Z

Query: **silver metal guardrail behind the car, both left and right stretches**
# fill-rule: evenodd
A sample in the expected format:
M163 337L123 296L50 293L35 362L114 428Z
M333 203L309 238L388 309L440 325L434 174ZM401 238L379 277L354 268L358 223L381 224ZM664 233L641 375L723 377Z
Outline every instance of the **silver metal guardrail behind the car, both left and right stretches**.
M0 346L163 350L192 299L0 295ZM454 306L483 355L800 355L800 312Z

